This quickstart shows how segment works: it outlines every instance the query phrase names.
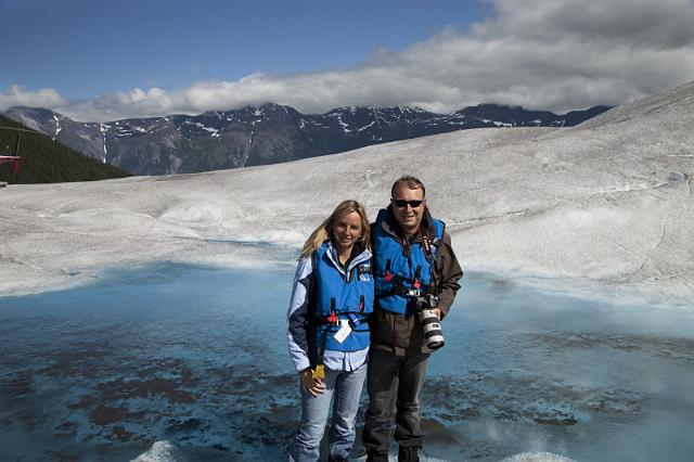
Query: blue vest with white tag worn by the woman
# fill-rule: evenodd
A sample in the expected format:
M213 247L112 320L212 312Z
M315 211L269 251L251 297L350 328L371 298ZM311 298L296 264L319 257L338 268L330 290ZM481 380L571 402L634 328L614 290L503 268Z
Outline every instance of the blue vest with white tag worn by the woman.
M316 316L319 318L316 345L319 349L334 351L357 351L369 347L367 317L373 312L374 296L369 253L362 252L344 269L335 248L325 242L313 253L313 271ZM340 329L335 318L342 323L348 321L351 329L342 343L335 339Z

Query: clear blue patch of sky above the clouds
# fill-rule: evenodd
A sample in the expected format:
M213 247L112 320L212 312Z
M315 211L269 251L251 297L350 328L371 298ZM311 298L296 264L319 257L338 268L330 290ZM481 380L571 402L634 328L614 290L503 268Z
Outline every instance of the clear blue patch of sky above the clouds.
M0 88L51 87L86 99L354 66L376 49L464 28L488 11L455 0L10 0L0 8L2 42L12 43Z

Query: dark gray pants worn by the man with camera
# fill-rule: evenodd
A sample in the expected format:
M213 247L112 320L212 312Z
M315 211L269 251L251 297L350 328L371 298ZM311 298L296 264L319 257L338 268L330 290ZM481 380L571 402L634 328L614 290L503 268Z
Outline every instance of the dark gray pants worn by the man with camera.
M367 451L388 451L388 439L396 411L395 440L402 448L421 448L424 442L420 423L422 385L428 354L396 356L372 347L369 356L369 408L361 439Z

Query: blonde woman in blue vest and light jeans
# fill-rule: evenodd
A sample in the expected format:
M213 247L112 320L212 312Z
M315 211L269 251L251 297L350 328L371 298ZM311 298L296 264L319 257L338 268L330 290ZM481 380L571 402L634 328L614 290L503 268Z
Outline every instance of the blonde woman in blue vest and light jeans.
M347 460L367 376L373 311L370 229L356 201L340 203L308 238L287 313L290 355L299 374L301 423L290 460L317 461L331 400L330 461Z

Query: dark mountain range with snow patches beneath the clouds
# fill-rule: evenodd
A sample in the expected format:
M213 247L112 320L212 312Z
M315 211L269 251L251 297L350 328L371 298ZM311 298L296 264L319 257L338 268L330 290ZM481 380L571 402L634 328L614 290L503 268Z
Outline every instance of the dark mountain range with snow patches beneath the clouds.
M468 128L568 127L608 108L556 115L480 104L448 115L402 106L339 107L306 115L288 106L265 104L105 124L78 123L31 107L11 107L5 116L130 172L165 175L277 164Z

